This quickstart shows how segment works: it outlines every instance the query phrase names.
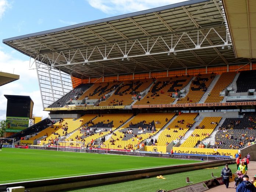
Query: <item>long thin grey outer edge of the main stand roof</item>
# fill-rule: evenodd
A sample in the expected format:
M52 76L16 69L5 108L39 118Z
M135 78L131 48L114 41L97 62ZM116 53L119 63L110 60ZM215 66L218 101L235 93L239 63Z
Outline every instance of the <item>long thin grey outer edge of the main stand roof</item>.
M41 32L36 32L36 33L29 33L27 35L16 36L16 37L13 37L13 38L8 38L8 39L3 39L3 43L8 42L8 41L12 41L12 40L22 39L22 38L29 38L29 37L33 37L33 36L44 35L44 34L47 34L47 33L54 33L54 32L64 31L64 30L68 30L68 29L78 28L78 27L82 27L82 26L86 26L86 25L99 24L101 22L108 22L108 21L114 21L114 20L128 18L128 17L135 17L135 16L138 16L138 15L153 13L153 12L157 12L157 11L163 11L163 10L176 8L176 7L181 7L181 6L188 6L188 5L191 5L191 4L202 3L202 2L206 2L206 1L210 1L210 0L188 0L188 1L183 1L183 2L180 2L180 3L175 3L175 4L171 4L171 5L167 5L167 6L161 6L161 7L151 8L151 9L148 9L148 10L137 11L137 12L134 12L134 13L128 13L128 14L118 15L118 16L114 16L114 17L108 17L108 18L104 18L104 19L97 19L97 20L94 20L94 21L83 22L83 23L80 23L80 24L65 26L65 27L56 28L56 29L50 29L50 30L47 30L47 31L41 31Z

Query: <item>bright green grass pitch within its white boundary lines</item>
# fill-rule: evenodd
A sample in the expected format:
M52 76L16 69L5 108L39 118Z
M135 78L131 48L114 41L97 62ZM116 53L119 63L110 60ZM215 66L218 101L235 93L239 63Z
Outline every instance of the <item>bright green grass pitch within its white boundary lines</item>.
M3 148L0 159L0 184L200 162L19 148Z

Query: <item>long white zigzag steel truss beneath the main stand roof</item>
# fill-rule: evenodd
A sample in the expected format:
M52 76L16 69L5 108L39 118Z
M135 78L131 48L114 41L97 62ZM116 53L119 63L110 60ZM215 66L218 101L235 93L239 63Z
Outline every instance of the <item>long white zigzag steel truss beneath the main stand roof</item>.
M216 38L219 39L220 43L213 45L213 43L209 42L209 39L207 37L209 36L210 33L211 35L215 34ZM40 67L40 68L48 68L53 66L61 67L61 66L76 65L76 64L89 65L90 63L101 62L101 61L121 60L121 59L129 60L129 59L134 59L136 57L154 56L159 54L168 54L168 55L173 54L175 56L177 53L184 52L184 51L194 51L199 49L210 49L210 48L216 50L217 47L232 46L232 43L229 43L227 31L225 31L225 34L226 34L225 38L223 38L220 33L223 33L223 32L217 32L216 29L212 27L212 28L209 28L206 34L203 34L201 29L197 30L196 37L195 37L195 33L193 33L192 35L192 34L189 34L189 32L182 32L181 35L171 34L170 36L168 36L168 38L166 38L166 36L157 36L156 39L152 37L148 37L146 39L135 39L135 40L127 40L125 42L115 42L114 44L106 43L104 44L105 45L104 50L102 50L102 47L100 49L99 46L86 47L86 50L76 49L75 53L73 53L72 56L65 55L63 51L60 51L60 52L56 51L52 53L53 55L52 58L49 58L49 53L43 55L43 57L47 57L49 61L51 60L50 62L51 65ZM182 38L184 37L189 39L189 42L193 44L193 47L187 46L182 41ZM147 42L146 45L145 45L145 41ZM149 42L151 45L149 45ZM157 44L160 44L159 42L161 42L161 47L163 47L164 50L158 49L158 51L152 51ZM111 44L111 46L109 46L109 44ZM138 48L139 50L141 50L141 52L139 52L136 55L130 54L132 51L138 50ZM110 54L114 49L115 50L118 49L119 55L110 58ZM55 57L54 57L54 54L55 54ZM100 55L101 58L94 59L93 58L94 54L97 54L97 56ZM83 57L83 61L81 62L75 61L74 58L77 55L81 55ZM42 57L42 54L40 54L40 57ZM58 62L58 60L62 62ZM96 70L93 70L90 68L89 70L97 73Z

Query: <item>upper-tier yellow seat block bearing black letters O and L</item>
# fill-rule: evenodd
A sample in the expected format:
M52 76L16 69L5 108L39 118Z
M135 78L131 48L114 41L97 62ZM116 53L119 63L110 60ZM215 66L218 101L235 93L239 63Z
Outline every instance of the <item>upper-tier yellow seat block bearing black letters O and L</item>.
M100 102L99 106L130 105L134 102L134 95L143 92L151 83L152 79L124 81L115 89L114 94L106 101Z

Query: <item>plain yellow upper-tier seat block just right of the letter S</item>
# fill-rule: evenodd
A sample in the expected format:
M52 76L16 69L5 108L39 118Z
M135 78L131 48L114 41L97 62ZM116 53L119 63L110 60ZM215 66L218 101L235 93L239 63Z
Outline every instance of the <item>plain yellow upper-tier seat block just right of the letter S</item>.
M218 103L221 102L224 96L220 96L220 92L223 91L235 78L236 72L225 72L221 74L220 78L214 85L210 94L208 95L205 103Z

